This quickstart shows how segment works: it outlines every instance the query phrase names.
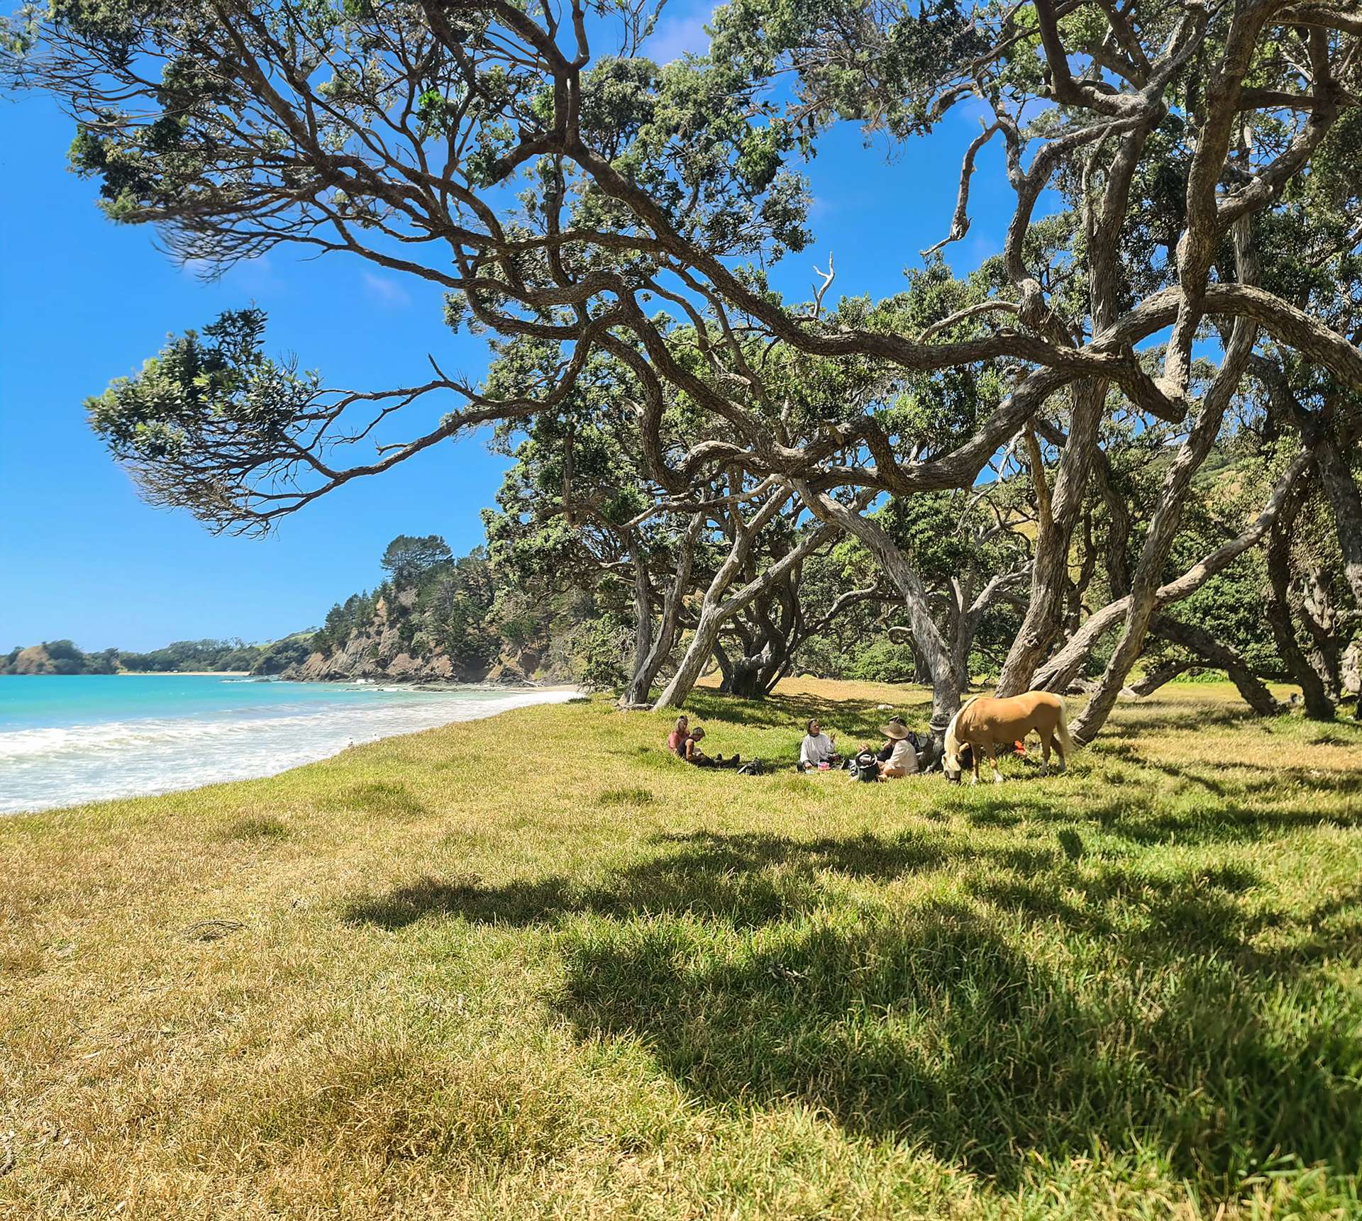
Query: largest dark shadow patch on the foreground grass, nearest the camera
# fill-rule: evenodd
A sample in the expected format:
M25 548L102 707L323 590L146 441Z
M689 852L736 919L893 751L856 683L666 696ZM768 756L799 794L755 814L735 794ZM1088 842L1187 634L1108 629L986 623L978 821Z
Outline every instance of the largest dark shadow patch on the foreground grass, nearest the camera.
M1158 1149L1211 1194L1283 1150L1343 1171L1362 1153L1357 1028L1273 1025L1214 957L1061 976L943 902L783 932L716 950L674 923L568 930L557 1003L583 1039L640 1039L706 1101L794 1098L1005 1188L1031 1150L1095 1143Z

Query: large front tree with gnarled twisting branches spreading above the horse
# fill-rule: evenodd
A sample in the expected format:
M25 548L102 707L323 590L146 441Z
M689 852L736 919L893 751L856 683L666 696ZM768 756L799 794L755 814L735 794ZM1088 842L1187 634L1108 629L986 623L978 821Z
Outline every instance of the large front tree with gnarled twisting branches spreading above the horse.
M157 225L211 265L281 245L350 253L441 286L451 325L557 353L512 391L436 361L407 387L345 393L267 362L259 320L237 316L116 385L97 426L161 502L218 528L267 527L478 423L557 412L605 355L631 373L640 463L662 491L719 471L748 490L775 481L873 547L861 510L877 495L970 489L1031 423L1062 445L1051 482L1036 481L1007 691L1061 644L1117 403L1179 429L1179 448L1111 603L1121 634L1083 723L1096 732L1162 604L1186 487L1254 358L1297 391L1318 382L1302 410L1323 419L1335 404L1329 436L1352 436L1362 22L1309 0L733 0L707 56L663 67L639 54L648 29L624 0L75 0L10 22L16 80L74 114L72 162L113 219ZM831 267L813 301L770 289L761 268L809 241L795 170L828 128L919 139L966 105L982 129L934 249L967 231L987 174L1015 199L998 260L881 305L824 308ZM990 143L1001 174L981 159ZM1061 207L1038 215L1049 192ZM1343 286L1331 308L1293 287L1302 261ZM753 358L768 347L787 354L774 368ZM810 369L831 370L831 392ZM343 461L343 442L430 395L451 400L436 429ZM706 423L669 455L676 402ZM960 404L955 426L925 419ZM880 558L911 613L915 579ZM910 618L932 652L928 618ZM938 728L957 678L938 655Z

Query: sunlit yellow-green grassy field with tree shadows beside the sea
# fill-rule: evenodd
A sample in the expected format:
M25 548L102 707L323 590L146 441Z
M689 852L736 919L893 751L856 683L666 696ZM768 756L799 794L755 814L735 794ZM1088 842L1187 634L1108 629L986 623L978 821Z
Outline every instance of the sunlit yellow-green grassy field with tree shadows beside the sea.
M878 702L692 716L793 758ZM666 727L0 819L0 1216L1362 1213L1362 727L1171 686L975 789Z

